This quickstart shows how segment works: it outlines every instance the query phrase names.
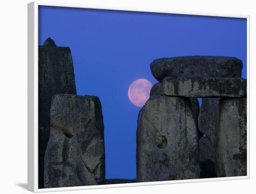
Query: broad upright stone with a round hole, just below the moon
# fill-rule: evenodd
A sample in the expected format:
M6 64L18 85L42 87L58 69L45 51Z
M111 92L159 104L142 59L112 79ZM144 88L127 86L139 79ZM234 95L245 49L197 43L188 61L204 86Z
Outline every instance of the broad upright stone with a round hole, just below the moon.
M138 116L137 181L199 178L198 136L190 101L152 96Z

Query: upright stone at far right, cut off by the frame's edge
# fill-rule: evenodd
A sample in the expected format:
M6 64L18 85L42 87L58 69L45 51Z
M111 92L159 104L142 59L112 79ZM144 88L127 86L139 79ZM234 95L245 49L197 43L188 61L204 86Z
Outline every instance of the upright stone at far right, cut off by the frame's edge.
M217 177L247 175L247 99L220 101L216 137Z

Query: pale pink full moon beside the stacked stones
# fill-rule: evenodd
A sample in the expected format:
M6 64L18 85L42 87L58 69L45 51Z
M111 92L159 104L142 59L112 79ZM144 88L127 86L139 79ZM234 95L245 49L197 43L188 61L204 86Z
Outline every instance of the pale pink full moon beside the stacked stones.
M146 79L135 80L128 89L128 98L136 107L143 107L149 99L152 83Z

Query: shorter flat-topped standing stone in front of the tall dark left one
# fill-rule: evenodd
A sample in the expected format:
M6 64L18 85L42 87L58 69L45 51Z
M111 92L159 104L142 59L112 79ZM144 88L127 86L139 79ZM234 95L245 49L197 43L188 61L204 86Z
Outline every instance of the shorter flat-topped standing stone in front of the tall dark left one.
M104 126L99 98L57 94L52 99L50 120L44 186L104 184Z

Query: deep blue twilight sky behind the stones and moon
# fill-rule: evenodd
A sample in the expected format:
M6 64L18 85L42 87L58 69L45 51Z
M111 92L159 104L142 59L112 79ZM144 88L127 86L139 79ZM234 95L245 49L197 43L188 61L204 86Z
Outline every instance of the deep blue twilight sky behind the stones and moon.
M39 7L39 45L70 47L77 94L97 95L105 125L106 178L136 177L140 110L128 100L136 79L157 81L152 60L184 55L235 56L246 78L246 19L68 7Z

